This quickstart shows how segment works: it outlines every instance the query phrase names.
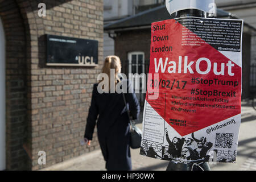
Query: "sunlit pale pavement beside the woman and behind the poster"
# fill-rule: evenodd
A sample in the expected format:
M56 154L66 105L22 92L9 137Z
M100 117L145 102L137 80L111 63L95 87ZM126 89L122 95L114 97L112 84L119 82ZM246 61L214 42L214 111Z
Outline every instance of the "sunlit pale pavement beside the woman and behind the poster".
M141 120L142 121L142 120ZM142 127L139 123L138 127ZM242 102L242 123L238 140L237 163L217 163L210 165L213 171L226 170L251 170L256 171L256 111L251 107L250 101ZM139 155L139 149L131 150L133 170L139 171L164 171L168 162L147 158ZM78 170L78 171L102 171L105 170L105 162L101 151L93 151L67 162L55 164L43 170Z

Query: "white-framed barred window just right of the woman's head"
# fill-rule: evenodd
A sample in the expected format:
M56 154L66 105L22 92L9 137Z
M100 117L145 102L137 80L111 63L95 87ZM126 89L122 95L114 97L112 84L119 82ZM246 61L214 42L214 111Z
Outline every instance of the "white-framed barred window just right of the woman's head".
M128 54L129 73L144 73L144 52L130 52Z

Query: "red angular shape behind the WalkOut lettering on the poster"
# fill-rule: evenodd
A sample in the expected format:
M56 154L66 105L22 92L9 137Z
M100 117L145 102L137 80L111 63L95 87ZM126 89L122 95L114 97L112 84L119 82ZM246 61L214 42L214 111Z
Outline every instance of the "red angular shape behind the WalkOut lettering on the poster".
M154 31L156 25L160 28ZM183 32L189 32L191 39L199 42L201 46L181 46ZM160 58L162 67L159 64ZM203 61L196 65L201 58ZM210 60L210 66L204 58ZM186 59L187 67L184 69ZM189 65L192 61L193 64ZM217 65L215 73L214 64ZM210 71L200 74L196 67L203 73L207 72L209 67ZM222 67L224 75L216 75ZM159 80L155 81L156 69L159 69ZM163 73L161 69L164 69ZM158 92L164 93L165 100L163 94L159 94L159 100L149 100L147 90L148 104L181 136L241 113L241 67L175 20L152 23L149 73L153 74L153 80L148 79L147 85L159 87ZM192 83L192 79L200 83ZM210 80L213 81L211 85ZM210 92L215 96L209 95Z

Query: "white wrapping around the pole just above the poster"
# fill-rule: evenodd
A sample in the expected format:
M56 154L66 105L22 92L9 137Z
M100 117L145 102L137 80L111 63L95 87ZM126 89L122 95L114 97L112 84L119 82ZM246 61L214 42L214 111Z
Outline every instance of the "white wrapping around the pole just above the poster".
M166 0L166 8L170 14L185 9L197 9L207 13L216 13L214 0Z

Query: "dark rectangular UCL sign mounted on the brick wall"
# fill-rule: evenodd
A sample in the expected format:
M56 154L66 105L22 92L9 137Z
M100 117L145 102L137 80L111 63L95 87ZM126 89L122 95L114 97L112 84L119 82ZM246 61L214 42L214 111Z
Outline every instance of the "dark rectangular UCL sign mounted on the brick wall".
M46 65L96 67L98 41L47 35Z

